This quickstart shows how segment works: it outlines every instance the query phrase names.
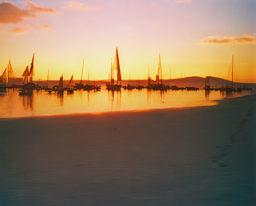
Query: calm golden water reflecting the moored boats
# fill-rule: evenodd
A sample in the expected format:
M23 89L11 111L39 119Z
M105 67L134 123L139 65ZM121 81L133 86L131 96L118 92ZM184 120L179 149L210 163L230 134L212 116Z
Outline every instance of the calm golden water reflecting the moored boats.
M125 110L144 110L158 108L177 108L200 105L215 105L214 100L225 97L239 97L253 91L226 93L220 91L154 91L121 90L74 91L63 94L45 90L34 90L32 96L19 96L17 89L8 89L0 96L0 118L40 116L54 114L111 112Z

